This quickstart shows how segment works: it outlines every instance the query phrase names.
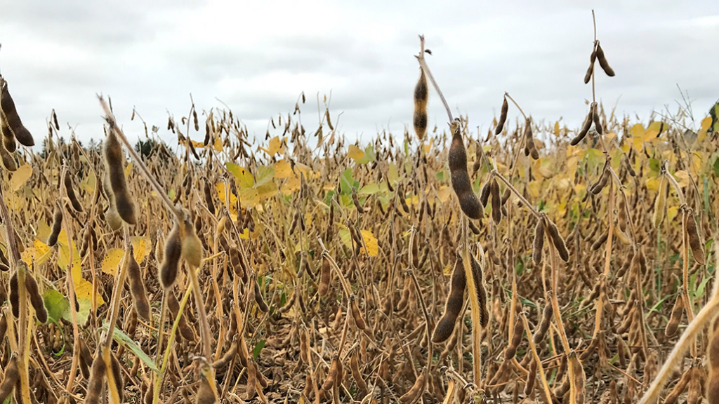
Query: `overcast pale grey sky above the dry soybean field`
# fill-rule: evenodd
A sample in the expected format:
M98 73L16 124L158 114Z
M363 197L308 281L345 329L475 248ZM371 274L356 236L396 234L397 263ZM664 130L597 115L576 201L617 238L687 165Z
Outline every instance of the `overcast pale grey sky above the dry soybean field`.
M267 121L307 94L303 123L316 127L316 94L331 92L339 129L369 140L411 125L418 37L449 105L487 130L508 91L535 119L580 124L582 83L598 38L617 75L597 75L597 96L648 119L676 110L688 91L701 119L719 98L719 9L699 1L221 1L0 0L0 73L36 137L52 108L83 141L102 134L96 93L112 97L126 132L136 106L161 127L224 101L264 138ZM314 104L310 104L313 101ZM430 95L430 124L446 114ZM278 134L281 134L279 132ZM201 134L195 134L201 140Z

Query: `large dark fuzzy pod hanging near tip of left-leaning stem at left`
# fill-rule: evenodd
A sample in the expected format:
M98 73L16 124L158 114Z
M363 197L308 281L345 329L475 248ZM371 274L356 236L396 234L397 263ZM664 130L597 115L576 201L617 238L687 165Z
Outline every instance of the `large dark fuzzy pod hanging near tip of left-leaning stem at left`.
M112 191L110 198L114 198L114 206L122 220L127 224L137 224L135 217L135 207L130 198L127 189L127 179L125 178L125 157L122 154L122 144L114 130L107 132L105 146L103 148L105 156L105 167L109 178L110 190Z

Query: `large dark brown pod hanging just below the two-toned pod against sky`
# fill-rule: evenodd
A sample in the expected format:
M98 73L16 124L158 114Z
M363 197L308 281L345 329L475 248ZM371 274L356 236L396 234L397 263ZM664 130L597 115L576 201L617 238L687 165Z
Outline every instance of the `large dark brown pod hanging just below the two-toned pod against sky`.
M451 126L452 144L449 146L449 172L452 177L452 189L459 199L462 208L470 219L482 219L482 206L472 190L470 174L467 172L467 150L462 141L459 120L454 119Z

